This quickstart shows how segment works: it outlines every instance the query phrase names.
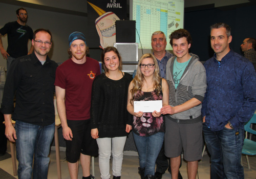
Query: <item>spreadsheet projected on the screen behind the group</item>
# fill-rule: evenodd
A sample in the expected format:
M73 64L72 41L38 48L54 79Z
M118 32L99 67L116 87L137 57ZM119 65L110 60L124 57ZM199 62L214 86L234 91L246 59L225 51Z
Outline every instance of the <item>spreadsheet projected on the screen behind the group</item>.
M184 0L131 0L131 14L130 19L136 20L139 48L152 49L152 33L162 31L167 38L166 50L172 50L168 36L184 27Z

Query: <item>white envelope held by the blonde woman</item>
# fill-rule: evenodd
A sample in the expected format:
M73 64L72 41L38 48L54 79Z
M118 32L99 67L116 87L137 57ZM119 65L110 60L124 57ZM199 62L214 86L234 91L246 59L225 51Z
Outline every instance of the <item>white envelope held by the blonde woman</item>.
M160 112L160 109L163 107L162 100L156 101L134 101L134 113L142 111L143 113L153 113L154 110Z

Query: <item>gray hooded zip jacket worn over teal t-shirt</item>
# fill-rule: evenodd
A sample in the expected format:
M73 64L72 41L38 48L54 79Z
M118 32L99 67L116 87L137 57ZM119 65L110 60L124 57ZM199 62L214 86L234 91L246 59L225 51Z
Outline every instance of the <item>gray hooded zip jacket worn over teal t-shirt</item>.
M196 98L203 102L206 92L206 73L203 64L199 61L199 57L189 53L191 59L186 66L186 69L180 79L180 83L175 88L174 84L174 61L176 56L170 58L166 65L166 80L169 86L169 105L177 106L184 102ZM193 108L182 111L174 115L167 115L168 119L180 123L196 123L201 119L202 104ZM186 120L186 121L185 121Z

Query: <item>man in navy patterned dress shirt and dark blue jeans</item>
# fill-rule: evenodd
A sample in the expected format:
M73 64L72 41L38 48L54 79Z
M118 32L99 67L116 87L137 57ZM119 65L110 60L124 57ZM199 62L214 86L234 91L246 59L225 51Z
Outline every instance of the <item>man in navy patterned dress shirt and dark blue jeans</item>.
M218 23L210 30L215 54L204 63L207 89L202 105L210 177L244 178L244 124L256 109L256 74L248 59L229 48L232 36L228 25Z

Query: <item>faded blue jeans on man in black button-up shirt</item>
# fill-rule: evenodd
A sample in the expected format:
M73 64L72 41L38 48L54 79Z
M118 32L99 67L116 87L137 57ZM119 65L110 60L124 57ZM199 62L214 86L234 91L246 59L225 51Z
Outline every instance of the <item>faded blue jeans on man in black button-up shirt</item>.
M55 123L39 126L16 120L18 178L47 178ZM33 165L34 159L34 165ZM32 169L33 165L33 169Z

